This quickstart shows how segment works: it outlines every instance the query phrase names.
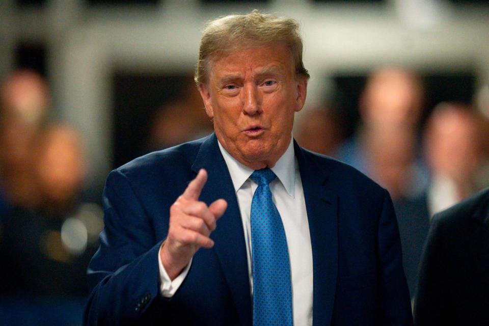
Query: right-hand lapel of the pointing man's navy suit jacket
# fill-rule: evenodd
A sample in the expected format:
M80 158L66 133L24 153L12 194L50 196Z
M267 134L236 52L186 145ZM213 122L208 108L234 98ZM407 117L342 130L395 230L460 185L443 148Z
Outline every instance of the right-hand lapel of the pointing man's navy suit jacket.
M313 324L329 325L338 273L338 196L324 167L294 142L306 200L313 260Z

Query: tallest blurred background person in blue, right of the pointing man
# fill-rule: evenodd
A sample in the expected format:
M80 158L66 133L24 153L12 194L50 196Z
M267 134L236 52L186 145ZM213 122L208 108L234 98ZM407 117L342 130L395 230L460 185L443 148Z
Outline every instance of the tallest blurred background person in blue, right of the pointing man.
M359 130L337 155L392 196L412 300L429 228L425 196L428 175L418 144L423 97L421 80L413 72L396 67L375 70L360 96Z

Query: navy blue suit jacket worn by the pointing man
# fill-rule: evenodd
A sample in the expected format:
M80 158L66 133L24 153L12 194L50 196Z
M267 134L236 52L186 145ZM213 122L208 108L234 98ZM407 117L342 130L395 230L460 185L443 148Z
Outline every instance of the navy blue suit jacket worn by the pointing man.
M410 325L411 305L388 193L357 170L294 144L313 256L314 325ZM158 250L170 206L208 172L200 200L228 208L172 298L159 292ZM114 170L103 195L105 229L93 257L87 324L251 325L243 228L215 134ZM300 325L297 325L300 326Z

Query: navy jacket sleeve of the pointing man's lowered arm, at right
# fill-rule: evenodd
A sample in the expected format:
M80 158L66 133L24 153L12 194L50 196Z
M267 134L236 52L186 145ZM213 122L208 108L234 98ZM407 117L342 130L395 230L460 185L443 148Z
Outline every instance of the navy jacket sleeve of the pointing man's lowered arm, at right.
M392 200L384 191L382 213L378 221L379 325L412 325L411 299L402 268L399 229Z

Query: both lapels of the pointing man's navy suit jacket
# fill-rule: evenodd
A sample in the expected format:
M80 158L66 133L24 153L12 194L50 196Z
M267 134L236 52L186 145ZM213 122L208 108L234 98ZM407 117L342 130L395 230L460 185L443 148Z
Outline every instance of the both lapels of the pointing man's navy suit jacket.
M328 171L317 157L293 142L304 189L313 255L313 325L329 325L333 315L338 270L338 195L329 183ZM204 168L208 180L201 200L210 204L224 198L228 208L211 234L241 324L252 324L252 305L246 244L231 176L212 133L202 143L192 170Z

